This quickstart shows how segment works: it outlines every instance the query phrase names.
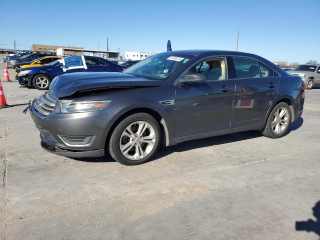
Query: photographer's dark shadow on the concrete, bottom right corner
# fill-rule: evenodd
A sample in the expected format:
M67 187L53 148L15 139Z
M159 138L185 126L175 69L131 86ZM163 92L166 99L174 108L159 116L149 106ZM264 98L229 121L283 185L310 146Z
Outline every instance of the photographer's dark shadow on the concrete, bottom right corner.
M297 231L313 231L320 236L320 201L312 207L313 216L316 220L308 219L306 221L296 221L295 230Z

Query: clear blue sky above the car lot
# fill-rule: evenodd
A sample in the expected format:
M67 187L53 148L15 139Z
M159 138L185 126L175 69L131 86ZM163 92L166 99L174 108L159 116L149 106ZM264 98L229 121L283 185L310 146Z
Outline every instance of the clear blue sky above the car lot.
M0 19L0 47L235 50L239 29L239 51L320 62L320 0L0 0Z

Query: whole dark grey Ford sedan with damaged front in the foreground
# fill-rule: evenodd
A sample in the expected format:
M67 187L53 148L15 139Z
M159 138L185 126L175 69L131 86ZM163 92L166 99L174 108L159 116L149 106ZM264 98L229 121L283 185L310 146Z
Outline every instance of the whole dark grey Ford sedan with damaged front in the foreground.
M93 157L107 150L134 165L149 160L160 143L245 130L281 137L303 102L301 77L260 56L180 50L123 72L59 75L29 108L47 151Z

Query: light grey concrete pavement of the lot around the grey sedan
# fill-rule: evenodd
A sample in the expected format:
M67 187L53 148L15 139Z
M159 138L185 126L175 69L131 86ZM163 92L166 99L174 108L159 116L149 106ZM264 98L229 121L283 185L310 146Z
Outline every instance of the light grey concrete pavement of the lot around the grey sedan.
M41 91L2 85L14 105L0 109L2 239L319 238L295 222L316 220L320 201L320 87L305 91L302 117L282 138L192 140L124 166L46 152L22 113Z

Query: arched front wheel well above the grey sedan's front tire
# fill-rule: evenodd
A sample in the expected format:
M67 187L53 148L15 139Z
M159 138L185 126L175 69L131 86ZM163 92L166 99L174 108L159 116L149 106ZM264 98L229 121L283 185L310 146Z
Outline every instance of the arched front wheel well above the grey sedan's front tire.
M139 107L139 108L131 109L123 113L118 119L116 119L116 121L112 124L107 134L107 137L105 139L105 144L109 141L114 128L119 124L120 121L122 121L125 117L138 112L144 112L144 113L150 114L158 122L161 129L161 144L168 145L169 144L168 130L163 117L157 111L147 107Z

